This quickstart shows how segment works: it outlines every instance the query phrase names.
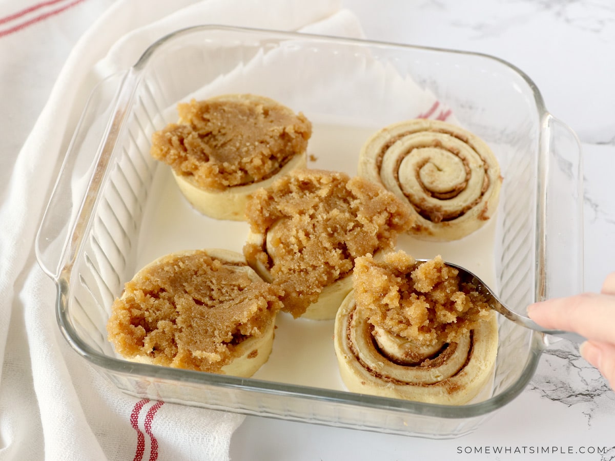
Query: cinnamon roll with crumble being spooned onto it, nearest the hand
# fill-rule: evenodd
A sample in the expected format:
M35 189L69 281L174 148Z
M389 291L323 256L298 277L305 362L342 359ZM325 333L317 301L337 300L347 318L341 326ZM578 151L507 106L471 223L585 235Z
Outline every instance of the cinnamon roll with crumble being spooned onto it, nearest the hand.
M465 404L489 393L496 314L439 256L357 258L354 290L335 320L335 352L348 390L426 403Z

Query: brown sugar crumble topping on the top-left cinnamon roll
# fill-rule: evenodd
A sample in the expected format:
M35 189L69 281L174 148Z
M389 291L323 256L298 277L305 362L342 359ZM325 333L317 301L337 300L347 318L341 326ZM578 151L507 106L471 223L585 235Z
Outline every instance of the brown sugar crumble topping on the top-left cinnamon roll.
M303 154L312 125L274 100L228 95L180 103L180 122L152 136L151 155L205 189L251 184Z

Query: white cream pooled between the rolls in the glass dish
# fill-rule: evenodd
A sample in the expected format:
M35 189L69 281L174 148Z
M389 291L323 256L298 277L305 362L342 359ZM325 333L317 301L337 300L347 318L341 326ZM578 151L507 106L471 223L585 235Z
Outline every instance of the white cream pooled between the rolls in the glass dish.
M319 123L310 116L313 131L308 144L308 168L357 174L360 149L380 127ZM248 235L247 223L218 221L200 215L181 195L168 168L157 168L151 197L144 210L144 226L138 239L137 267L162 254L194 248L224 248L241 253ZM495 286L493 245L496 223L490 219L481 229L455 242L426 242L400 234L397 246L416 259L441 254ZM181 223L178 225L178 223ZM255 379L346 390L339 377L333 348L334 320L294 319L280 312L276 319L273 350L269 360L253 375ZM488 398L486 388L480 399Z

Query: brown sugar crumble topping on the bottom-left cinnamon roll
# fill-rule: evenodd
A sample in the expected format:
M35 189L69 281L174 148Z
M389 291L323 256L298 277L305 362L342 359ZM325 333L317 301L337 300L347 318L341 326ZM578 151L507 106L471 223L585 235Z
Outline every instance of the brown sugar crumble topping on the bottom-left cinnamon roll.
M280 294L204 251L169 255L125 284L111 308L109 341L123 357L220 372L242 339L263 333Z

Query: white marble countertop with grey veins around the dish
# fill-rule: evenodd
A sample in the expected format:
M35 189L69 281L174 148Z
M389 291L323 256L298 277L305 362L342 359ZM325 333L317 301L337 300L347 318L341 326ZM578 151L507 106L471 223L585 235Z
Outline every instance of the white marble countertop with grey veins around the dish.
M615 2L344 0L368 39L482 52L522 69L579 136L584 160L585 290L615 270ZM474 433L430 440L247 417L233 460L615 460L615 392L552 344L530 385ZM482 447L480 454L475 452ZM493 447L493 448L486 448ZM499 454L494 449L500 447ZM549 454L535 451L549 447ZM524 455L525 453L525 455Z

